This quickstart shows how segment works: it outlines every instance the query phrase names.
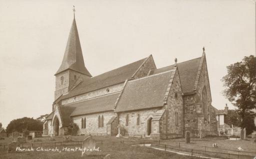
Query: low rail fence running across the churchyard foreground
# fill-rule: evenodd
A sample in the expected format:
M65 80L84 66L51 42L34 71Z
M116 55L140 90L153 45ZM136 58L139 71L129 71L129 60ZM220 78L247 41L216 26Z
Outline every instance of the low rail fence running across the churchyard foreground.
M128 145L140 145L140 146L145 146L146 144L151 144L150 147L152 148L158 148L162 149L164 151L171 151L171 152L178 152L178 153L183 153L186 155L191 155L191 156L208 156L208 157L216 157L216 158L221 158L221 159L252 159L254 157L254 154L256 152L241 152L241 151L235 151L235 150L228 150L228 149L216 149L216 151L210 151L211 147L206 147L206 146L199 146L202 147L202 149L188 149L184 148L178 143L178 145L167 145L167 144L161 144L160 140L144 140L143 138L141 140L130 140L130 139L114 139L114 140L96 140L96 144L105 144L105 143L123 143L123 144L128 144ZM65 142L48 142L48 143L25 143L25 144L20 144L20 148L34 148L34 147L57 147L57 146L74 146L74 145L82 145L82 141L65 141ZM198 145L197 145L198 146ZM0 146L0 150L7 150L8 146ZM224 153L221 152L220 150L223 151L228 151L232 153ZM247 154L246 154L247 153Z

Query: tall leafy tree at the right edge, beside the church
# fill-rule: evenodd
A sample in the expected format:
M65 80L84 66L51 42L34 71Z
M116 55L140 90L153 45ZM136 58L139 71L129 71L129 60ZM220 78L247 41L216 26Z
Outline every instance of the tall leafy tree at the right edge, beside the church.
M252 109L256 107L256 58L250 55L226 68L227 75L222 78L223 94L237 108L240 127L255 130L250 119L255 116Z

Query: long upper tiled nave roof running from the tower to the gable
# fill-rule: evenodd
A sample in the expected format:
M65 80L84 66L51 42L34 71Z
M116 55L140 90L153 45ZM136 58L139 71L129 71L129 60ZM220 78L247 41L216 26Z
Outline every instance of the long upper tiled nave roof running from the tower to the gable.
M75 95L87 93L100 88L108 87L114 84L122 83L126 79L129 79L139 66L146 60L143 58L139 61L130 63L128 65L119 67L117 69L105 72L98 76L91 77L90 79L84 80L76 88L66 95L62 95L60 99L66 99Z

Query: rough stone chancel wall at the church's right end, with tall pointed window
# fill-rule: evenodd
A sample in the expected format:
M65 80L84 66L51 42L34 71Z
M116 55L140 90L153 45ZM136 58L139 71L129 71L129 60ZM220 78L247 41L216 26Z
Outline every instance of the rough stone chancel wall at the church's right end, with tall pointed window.
M195 94L184 96L185 131L190 131L192 136L199 137L217 134L217 121L215 110L211 106L211 94L205 56L201 57L201 69L198 74L198 83ZM207 101L202 101L202 90L205 88ZM203 115L203 102L206 103L206 117ZM209 120L208 120L209 115Z

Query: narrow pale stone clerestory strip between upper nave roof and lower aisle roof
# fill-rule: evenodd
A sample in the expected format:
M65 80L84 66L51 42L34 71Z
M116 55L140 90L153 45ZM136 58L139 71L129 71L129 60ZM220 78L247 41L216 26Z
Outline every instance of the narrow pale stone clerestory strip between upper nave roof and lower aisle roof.
M61 101L62 105L66 105L66 104L70 104L73 102L78 102L78 101L82 101L82 100L86 100L86 99L90 99L90 98L94 98L94 97L98 97L98 96L102 96L102 95L106 95L106 94L111 94L111 93L115 93L115 92L120 92L121 89L123 87L123 83L120 84L116 84L113 86L109 86L106 88L101 88L98 89L96 91L92 91L89 93L84 93L75 97L71 97L71 98L67 98L67 99L63 99ZM108 89L108 91L107 91Z

